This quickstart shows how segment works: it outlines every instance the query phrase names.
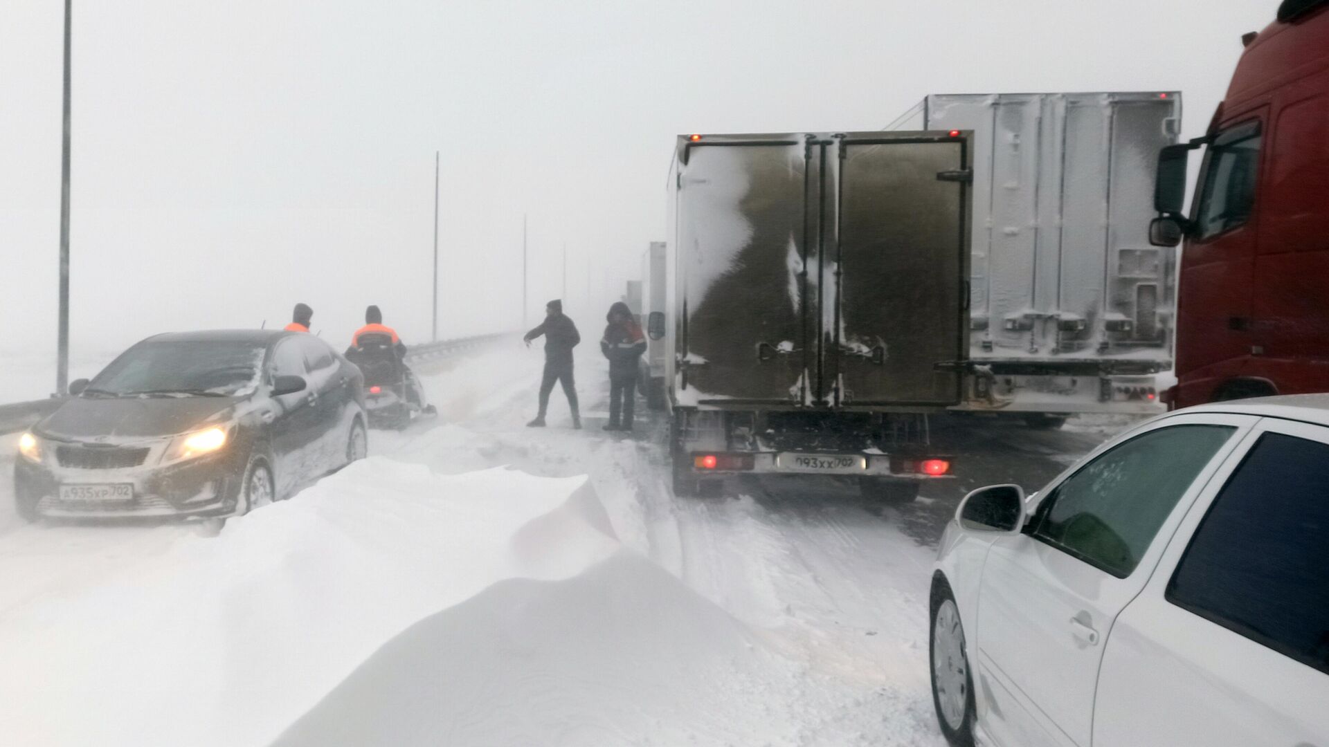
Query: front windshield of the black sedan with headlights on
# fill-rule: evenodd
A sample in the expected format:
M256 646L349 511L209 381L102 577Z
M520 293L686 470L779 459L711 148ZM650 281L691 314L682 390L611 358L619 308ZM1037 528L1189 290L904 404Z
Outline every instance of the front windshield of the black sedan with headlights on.
M137 344L108 366L88 396L230 396L258 383L264 346L253 342Z

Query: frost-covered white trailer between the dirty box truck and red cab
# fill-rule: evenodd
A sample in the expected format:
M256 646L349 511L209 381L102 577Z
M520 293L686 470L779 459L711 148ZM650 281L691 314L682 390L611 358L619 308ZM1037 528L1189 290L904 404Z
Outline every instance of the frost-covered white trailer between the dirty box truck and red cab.
M1156 413L1172 367L1175 258L1150 245L1154 160L1181 97L929 96L888 130L973 130L965 412L1059 427Z

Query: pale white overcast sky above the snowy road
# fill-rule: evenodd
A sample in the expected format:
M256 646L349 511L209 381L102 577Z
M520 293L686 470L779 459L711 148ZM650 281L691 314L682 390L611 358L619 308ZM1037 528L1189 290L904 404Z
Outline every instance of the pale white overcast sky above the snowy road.
M54 351L61 5L0 13L3 351ZM296 300L339 346L368 303L428 339L435 150L440 335L520 326L524 213L532 320L566 242L594 330L663 238L678 133L880 129L928 93L1179 89L1196 136L1276 7L74 0L74 346L279 326Z

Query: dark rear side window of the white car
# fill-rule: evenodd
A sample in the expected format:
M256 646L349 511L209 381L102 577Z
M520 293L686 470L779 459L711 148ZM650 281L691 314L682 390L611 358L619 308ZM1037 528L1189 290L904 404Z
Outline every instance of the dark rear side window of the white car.
M1264 435L1209 506L1167 599L1329 673L1329 445Z

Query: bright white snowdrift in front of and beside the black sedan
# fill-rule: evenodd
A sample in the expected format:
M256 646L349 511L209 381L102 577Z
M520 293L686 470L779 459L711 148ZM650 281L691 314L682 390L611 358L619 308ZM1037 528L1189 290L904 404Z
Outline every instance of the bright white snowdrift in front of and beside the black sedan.
M615 552L585 485L373 457L215 538L175 537L132 572L0 603L0 734L25 746L264 743L420 618ZM0 587L33 562L0 556Z

